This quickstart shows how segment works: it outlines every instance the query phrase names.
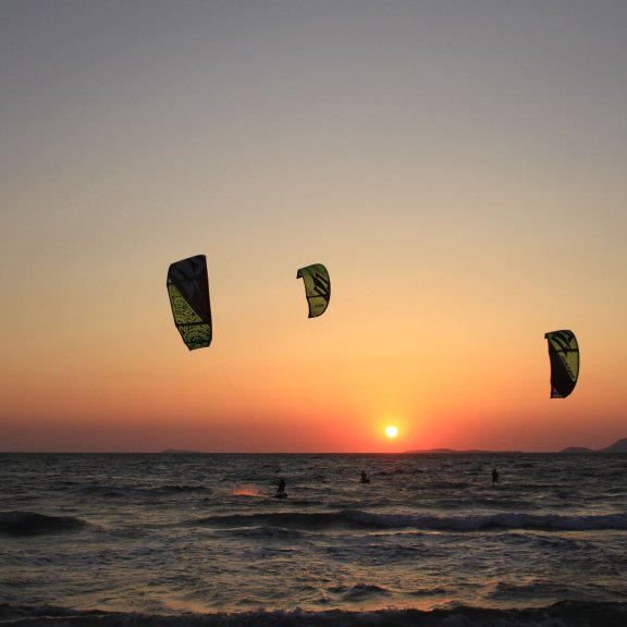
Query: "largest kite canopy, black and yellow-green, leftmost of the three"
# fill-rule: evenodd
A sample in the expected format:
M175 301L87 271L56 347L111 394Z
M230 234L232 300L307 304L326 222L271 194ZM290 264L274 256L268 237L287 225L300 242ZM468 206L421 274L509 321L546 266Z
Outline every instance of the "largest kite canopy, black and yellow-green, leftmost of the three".
M168 294L174 324L189 351L211 344L209 278L205 255L175 261L168 270Z

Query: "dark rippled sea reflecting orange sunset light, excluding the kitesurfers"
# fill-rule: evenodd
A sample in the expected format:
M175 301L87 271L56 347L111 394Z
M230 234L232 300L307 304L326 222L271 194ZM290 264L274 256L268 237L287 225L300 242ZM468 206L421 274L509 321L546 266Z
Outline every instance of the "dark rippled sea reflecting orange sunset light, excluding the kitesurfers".
M0 454L0 625L625 627L627 455Z

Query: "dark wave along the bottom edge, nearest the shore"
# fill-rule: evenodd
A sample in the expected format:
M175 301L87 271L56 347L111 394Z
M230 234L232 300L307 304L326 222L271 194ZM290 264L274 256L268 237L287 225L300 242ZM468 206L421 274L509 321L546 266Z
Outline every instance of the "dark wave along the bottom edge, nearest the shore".
M217 614L155 615L74 611L64 607L19 607L0 604L0 622L22 627L624 627L627 603L561 601L546 607L495 610L455 606L431 611L377 610L348 612L263 611Z

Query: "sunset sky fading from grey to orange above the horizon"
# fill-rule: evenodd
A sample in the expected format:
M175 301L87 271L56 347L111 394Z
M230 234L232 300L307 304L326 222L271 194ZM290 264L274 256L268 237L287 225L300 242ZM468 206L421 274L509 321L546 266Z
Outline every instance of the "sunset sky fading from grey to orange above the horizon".
M0 452L627 437L627 2L0 0Z

